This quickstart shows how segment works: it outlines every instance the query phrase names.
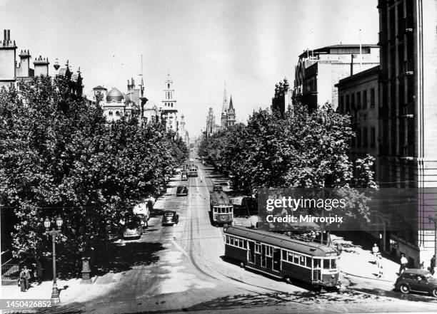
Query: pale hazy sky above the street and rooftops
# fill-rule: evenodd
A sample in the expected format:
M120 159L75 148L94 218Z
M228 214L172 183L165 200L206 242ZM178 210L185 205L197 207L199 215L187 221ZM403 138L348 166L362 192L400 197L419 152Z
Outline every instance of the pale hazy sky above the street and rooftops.
M223 85L236 120L268 108L275 84L293 85L306 48L378 41L376 0L0 0L0 31L17 51L80 66L85 91L96 85L126 93L143 56L146 97L164 99L174 80L177 109L190 137L214 108L220 123ZM1 31L0 36L3 36ZM3 39L3 38L1 38ZM18 54L18 53L17 53ZM53 73L53 72L52 72ZM138 80L136 80L138 81Z

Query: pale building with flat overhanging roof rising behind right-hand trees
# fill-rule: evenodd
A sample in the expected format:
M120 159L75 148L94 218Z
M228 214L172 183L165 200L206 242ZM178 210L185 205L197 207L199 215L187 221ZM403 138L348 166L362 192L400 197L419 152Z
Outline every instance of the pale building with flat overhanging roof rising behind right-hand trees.
M301 53L295 67L293 102L311 110L325 103L338 107L336 83L378 66L379 47L372 44L340 44Z

